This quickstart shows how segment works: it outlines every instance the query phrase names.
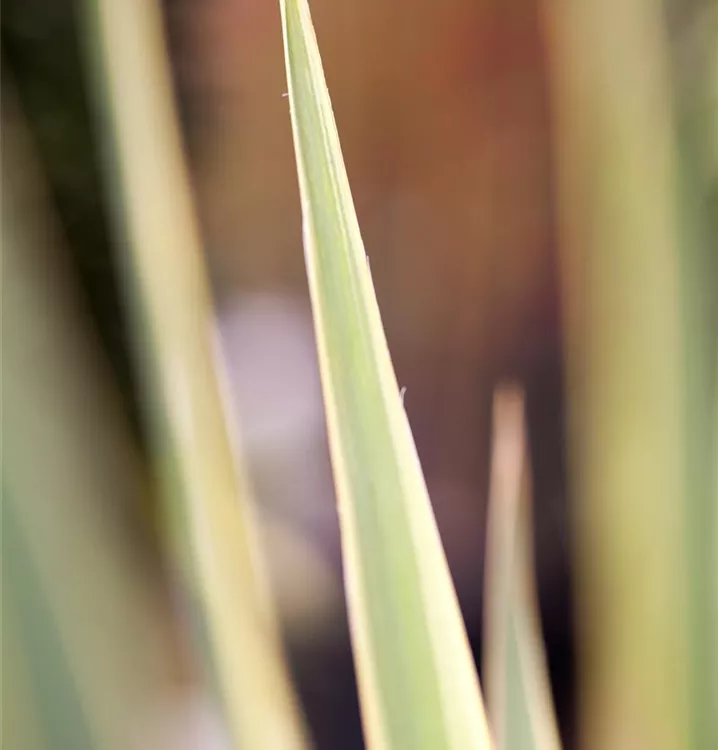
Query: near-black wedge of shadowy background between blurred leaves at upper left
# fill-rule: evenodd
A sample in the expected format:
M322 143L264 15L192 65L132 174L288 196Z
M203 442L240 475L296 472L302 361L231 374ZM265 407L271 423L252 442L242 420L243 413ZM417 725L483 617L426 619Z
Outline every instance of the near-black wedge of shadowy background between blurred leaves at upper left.
M0 45L43 166L48 198L67 240L67 264L77 274L131 427L139 436L127 328L114 283L74 10L75 0L5 0Z

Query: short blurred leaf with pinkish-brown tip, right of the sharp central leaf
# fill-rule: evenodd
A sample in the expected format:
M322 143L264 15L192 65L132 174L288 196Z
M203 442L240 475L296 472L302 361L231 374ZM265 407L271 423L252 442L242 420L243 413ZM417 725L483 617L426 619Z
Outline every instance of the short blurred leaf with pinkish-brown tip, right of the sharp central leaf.
M494 396L484 585L484 681L497 750L558 750L533 581L524 395Z

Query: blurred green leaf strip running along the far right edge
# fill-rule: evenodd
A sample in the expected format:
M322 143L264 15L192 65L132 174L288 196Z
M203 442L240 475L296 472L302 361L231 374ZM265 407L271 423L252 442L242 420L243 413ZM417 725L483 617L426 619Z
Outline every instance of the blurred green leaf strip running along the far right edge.
M673 7L671 51L678 131L681 323L685 340L686 516L692 747L718 747L718 580L713 494L718 354L718 3Z

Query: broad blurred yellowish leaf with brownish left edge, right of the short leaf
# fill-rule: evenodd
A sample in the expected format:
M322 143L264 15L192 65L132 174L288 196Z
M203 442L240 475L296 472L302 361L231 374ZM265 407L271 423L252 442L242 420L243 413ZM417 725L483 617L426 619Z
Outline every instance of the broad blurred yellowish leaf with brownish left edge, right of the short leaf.
M663 7L545 0L567 321L581 731L684 750L686 424Z

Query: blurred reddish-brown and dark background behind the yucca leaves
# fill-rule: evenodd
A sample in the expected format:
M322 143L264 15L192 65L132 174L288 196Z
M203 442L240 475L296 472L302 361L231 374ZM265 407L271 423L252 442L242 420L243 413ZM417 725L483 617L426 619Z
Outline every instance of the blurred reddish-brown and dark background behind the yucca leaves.
M259 502L292 671L316 747L358 749L278 4L162 5L229 373L228 417ZM574 485L550 100L556 52L540 4L313 0L311 7L390 351L479 661L492 397L507 379L525 388L542 628L570 750L578 746ZM671 85L677 100L692 102L696 71L716 39L715 7L672 2L666 18ZM150 591L147 606L160 613L173 679L187 688L166 717L187 744L167 746L227 747L189 646L181 586L163 554L82 27L70 0L4 0L0 19L5 75L43 185L43 200L25 208L31 224L52 227L42 232L52 238L45 282L47 269L58 268L50 278L57 273L73 289L77 325L104 360L105 387L136 453L133 471L145 478L113 509L114 528ZM698 153L692 163L712 174L703 275L713 279L706 315L718 321L718 158ZM714 325L708 340L715 332ZM715 355L709 360L713 366Z

